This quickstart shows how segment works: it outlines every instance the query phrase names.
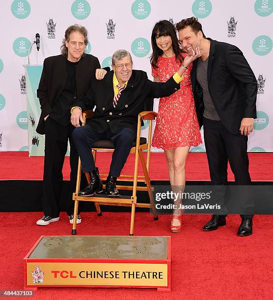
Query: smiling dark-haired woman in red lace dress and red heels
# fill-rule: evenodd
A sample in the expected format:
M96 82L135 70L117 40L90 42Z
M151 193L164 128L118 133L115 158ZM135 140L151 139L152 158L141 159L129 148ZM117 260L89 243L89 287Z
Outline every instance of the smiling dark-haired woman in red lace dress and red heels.
M192 64L189 64L189 61L193 59L188 60L187 54L182 52L175 27L166 20L154 26L152 48L151 65L154 81L165 82L181 65L185 66L180 90L160 99L152 140L153 147L164 149L173 191L183 192L186 181L185 163L190 147L202 143L191 90ZM192 54L195 56L194 50ZM180 203L181 199L180 202L176 201L177 206ZM172 232L181 231L181 220L181 209L174 209Z

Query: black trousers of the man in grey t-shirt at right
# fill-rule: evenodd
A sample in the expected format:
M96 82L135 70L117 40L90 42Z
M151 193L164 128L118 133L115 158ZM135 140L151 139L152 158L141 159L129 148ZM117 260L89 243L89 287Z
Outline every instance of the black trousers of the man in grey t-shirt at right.
M250 185L247 135L231 134L221 121L203 118L203 124L212 184L227 185L227 162L229 161L236 185ZM249 200L247 199L247 201ZM246 204L249 204L249 202ZM241 215L241 217L252 218L253 215L247 214Z

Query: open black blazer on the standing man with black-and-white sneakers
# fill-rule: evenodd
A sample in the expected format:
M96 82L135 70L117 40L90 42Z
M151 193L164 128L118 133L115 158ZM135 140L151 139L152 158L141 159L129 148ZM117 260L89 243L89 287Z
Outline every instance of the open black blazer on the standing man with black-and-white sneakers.
M68 74L65 70L66 57L56 55L47 57L44 60L43 72L41 75L37 97L41 104L41 116L36 128L40 134L45 134L44 118L52 112L52 106L64 89ZM99 69L100 62L97 57L91 54L82 56L76 66L77 93L85 95L95 78L96 69Z

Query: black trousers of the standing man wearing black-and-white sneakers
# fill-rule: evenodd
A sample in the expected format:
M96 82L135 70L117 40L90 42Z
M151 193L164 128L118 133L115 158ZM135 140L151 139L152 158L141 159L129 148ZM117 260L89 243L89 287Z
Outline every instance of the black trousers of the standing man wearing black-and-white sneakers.
M74 213L72 194L76 191L79 155L72 138L74 126L62 126L48 117L45 121L45 160L43 181L43 211L45 216L58 217L60 213L60 197L62 189L62 167L70 143L70 195L67 199L67 214ZM82 202L79 202L78 214L81 212Z

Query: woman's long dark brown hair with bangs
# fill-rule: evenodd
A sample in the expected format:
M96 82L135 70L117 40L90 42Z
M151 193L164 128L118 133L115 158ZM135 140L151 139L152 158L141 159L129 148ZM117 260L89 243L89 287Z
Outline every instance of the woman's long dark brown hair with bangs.
M178 38L176 35L176 30L174 25L172 25L169 21L167 20L162 20L159 21L153 28L152 31L152 48L153 48L153 53L150 56L150 62L151 65L157 69L157 61L158 57L163 54L163 50L159 49L157 46L156 42L156 36L163 36L163 35L169 35L171 37L171 43L172 43L172 50L175 54L175 59L180 62L180 64L183 63L183 56L181 54L182 48L181 45L178 42Z

